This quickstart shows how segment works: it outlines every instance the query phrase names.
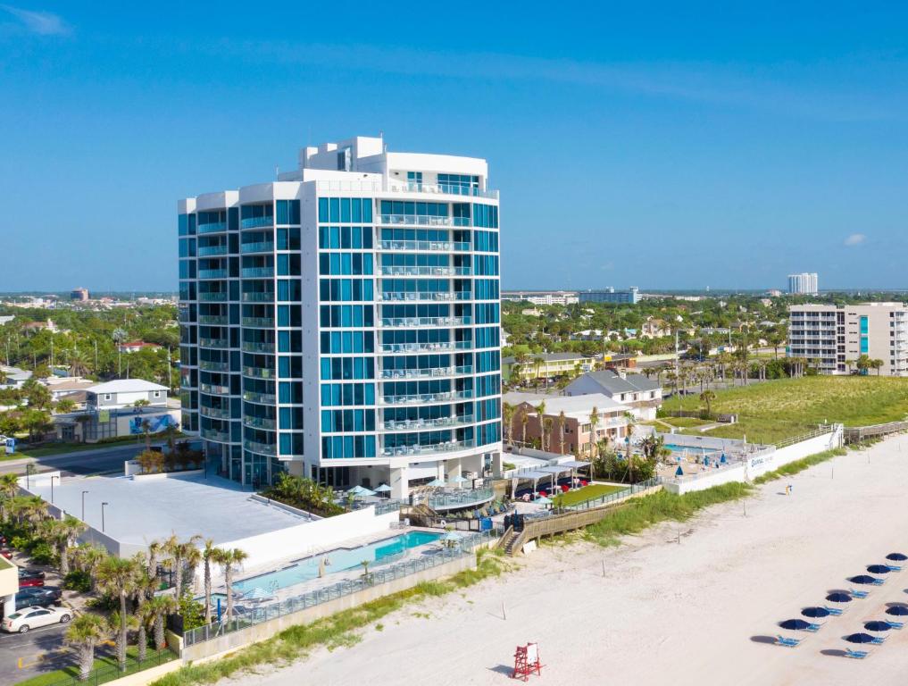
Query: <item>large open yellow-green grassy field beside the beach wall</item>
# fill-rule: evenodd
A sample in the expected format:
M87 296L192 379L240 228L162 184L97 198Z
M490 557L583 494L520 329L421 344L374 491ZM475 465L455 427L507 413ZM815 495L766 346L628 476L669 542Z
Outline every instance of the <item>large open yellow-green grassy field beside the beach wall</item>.
M738 415L739 423L708 435L775 443L818 423L865 426L901 421L908 414L908 379L880 376L807 376L716 391L713 412ZM697 410L696 396L670 398L665 410ZM675 418L665 418L674 423Z

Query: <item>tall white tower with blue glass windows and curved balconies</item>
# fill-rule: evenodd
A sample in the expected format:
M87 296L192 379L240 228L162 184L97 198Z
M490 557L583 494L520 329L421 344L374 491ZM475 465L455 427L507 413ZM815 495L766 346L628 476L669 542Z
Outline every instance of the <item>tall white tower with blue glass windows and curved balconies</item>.
M471 157L307 147L178 204L183 428L222 473L335 487L501 465L498 192Z

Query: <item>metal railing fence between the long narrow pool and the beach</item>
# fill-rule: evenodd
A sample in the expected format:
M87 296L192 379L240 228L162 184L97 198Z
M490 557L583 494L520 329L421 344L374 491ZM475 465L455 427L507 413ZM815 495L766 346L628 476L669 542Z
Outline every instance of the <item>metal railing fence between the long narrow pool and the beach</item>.
M284 615L292 614L306 610L307 608L321 605L324 602L334 601L345 595L364 591L374 586L380 586L383 583L393 582L398 579L425 572L426 570L447 564L466 555L473 554L473 548L488 542L493 538L501 535L500 529L492 529L486 532L475 532L464 535L463 538L451 547L445 547L434 555L424 555L413 560L396 562L385 567L380 567L373 572L364 572L356 579L346 579L342 582L333 583L315 591L301 593L282 601L271 602L261 607L250 608L242 612L238 617L230 620L206 624L205 626L183 634L183 645L191 646L202 641L211 641L218 636L222 636L233 631L241 631L264 621L270 621ZM53 685L55 686L55 684Z

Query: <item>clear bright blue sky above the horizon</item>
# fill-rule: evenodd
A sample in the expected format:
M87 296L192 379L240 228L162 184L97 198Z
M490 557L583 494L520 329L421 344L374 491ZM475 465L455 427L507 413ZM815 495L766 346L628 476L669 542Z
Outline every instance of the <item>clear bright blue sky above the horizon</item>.
M0 291L175 290L177 198L380 131L489 159L506 288L908 288L903 6L122 5L0 5Z

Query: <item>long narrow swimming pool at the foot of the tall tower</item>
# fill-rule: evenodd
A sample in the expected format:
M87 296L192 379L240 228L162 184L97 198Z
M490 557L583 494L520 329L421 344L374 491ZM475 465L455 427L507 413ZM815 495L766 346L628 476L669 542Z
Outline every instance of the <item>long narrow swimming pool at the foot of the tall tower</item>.
M319 576L321 561L324 560L325 575L360 567L360 562L368 560L372 564L377 562L390 562L390 558L400 557L411 548L438 541L440 533L407 532L400 536L384 539L382 541L362 545L358 548L338 548L333 551L305 558L293 562L291 565L274 572L266 572L251 576L233 583L234 591L252 591L262 588L265 591L277 591L297 583L308 582Z

